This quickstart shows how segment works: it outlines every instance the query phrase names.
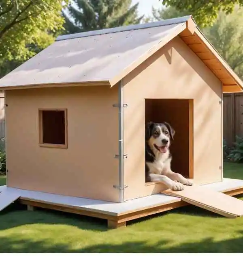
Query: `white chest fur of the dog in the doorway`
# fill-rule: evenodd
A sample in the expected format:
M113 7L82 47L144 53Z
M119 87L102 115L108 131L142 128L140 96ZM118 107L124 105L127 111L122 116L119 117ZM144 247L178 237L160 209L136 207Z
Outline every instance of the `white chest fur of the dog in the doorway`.
M157 153L153 163L146 162L149 167L149 172L151 174L166 175L166 173L171 169L171 158L168 158L168 156L168 151L165 154Z

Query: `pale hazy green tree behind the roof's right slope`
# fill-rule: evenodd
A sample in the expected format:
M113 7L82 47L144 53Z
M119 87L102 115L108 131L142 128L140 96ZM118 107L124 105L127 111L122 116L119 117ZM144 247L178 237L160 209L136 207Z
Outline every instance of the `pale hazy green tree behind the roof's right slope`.
M188 15L187 11L175 7L152 9L150 21L158 21ZM243 79L243 9L234 7L232 13L220 11L212 26L201 28L219 54Z

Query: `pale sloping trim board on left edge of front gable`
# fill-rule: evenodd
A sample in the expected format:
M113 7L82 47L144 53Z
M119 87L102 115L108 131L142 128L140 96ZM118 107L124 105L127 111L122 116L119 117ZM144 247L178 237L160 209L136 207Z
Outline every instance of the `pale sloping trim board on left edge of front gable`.
M151 55L153 55L155 52L160 50L163 46L166 45L169 41L171 41L173 38L175 38L179 33L181 33L183 30L187 28L187 22L182 23L181 25L178 24L177 27L173 30L173 33L169 33L165 37L162 38L162 40L155 46L153 46L151 49L149 49L147 52L145 52L139 59L131 63L126 69L124 69L120 74L112 78L109 82L111 87L113 87L117 82L122 80L126 75L128 75L132 70L134 70L136 67L138 67L141 63L146 61Z

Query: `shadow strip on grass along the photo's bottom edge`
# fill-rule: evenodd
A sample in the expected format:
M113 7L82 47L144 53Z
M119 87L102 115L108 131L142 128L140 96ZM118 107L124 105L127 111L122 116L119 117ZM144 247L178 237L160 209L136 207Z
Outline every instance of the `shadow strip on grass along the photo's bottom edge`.
M242 234L242 233L241 233ZM170 241L161 240L156 244L149 245L147 241L138 242L125 242L120 244L110 244L107 241L106 244L96 244L92 246L80 246L80 249L71 249L67 244L55 244L50 246L46 241L30 241L27 239L21 239L17 235L12 235L11 239L2 237L0 240L0 252L70 252L70 253L82 253L82 252L130 252L130 253L145 253L145 252L160 252L160 253L195 253L195 252L215 252L226 253L234 252L239 253L243 251L242 248L243 236L228 240L214 241L214 239L207 238L200 242L181 243L179 245L171 246L168 243Z

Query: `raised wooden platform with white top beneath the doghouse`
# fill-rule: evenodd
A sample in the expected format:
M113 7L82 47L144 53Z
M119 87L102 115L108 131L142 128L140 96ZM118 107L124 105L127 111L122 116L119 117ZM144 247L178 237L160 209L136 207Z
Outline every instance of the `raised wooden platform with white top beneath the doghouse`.
M243 193L243 180L225 178L222 182L207 184L202 187L233 196ZM1 186L0 192L19 195L19 202L27 205L28 210L41 207L107 219L109 228L126 226L126 221L188 205L188 203L181 201L179 197L164 194L141 197L124 203L113 203L6 186Z

